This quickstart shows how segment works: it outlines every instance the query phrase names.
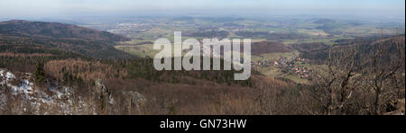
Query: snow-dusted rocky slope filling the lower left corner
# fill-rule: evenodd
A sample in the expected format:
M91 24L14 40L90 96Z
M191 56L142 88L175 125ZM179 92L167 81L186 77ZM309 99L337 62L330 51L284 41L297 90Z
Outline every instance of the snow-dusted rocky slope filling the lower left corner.
M38 89L31 81L32 74L0 68L0 114L97 114L74 89L51 82Z

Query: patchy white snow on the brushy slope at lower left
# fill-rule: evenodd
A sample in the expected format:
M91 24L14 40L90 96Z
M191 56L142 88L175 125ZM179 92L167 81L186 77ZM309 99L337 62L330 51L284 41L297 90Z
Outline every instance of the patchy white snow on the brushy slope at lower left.
M31 76L31 74L26 75ZM35 90L34 84L29 80L30 78L19 79L12 72L0 68L0 86L6 86L11 89L14 101L15 96L20 95L23 100L30 102L35 114L41 114L40 110L43 106L53 107L53 109L59 110L59 114L79 114L79 112L85 110L85 112L96 114L95 108L90 107L87 102L83 101L83 98L78 97L78 100L73 98L74 93L71 88L59 86L58 84L47 84L46 90L51 92L51 94L48 94ZM14 84L11 83L12 81ZM5 93L2 93L2 90L0 90L0 110L4 109L7 101ZM23 111L26 110L25 107L22 107L22 109ZM45 111L44 113L48 112Z

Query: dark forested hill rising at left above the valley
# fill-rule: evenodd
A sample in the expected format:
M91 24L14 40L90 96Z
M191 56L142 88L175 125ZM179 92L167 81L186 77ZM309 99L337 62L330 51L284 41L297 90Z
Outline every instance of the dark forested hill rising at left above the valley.
M0 22L1 47L14 48L0 49L0 52L32 54L30 47L34 49L41 46L42 49L59 49L88 58L131 58L131 55L114 48L116 41L123 40L130 39L106 31L58 22ZM15 47L24 49L18 50Z

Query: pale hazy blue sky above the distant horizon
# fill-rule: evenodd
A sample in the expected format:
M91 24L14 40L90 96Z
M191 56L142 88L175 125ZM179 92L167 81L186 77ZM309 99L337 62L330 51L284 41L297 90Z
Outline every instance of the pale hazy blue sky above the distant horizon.
M403 16L405 0L0 0L1 17L137 13L319 13Z

